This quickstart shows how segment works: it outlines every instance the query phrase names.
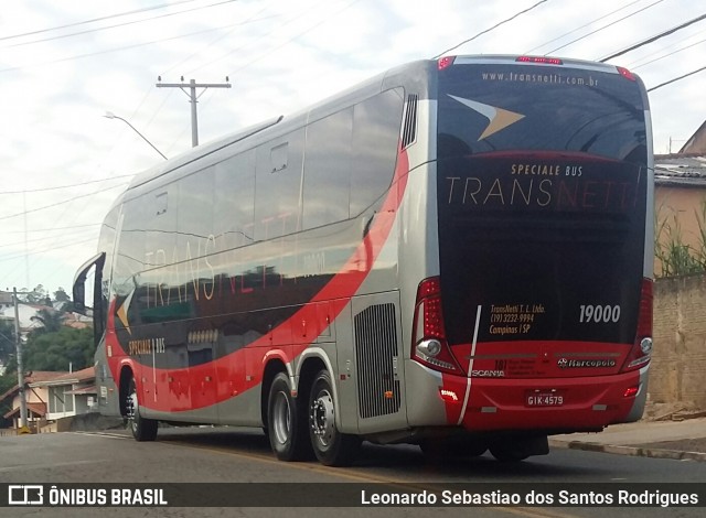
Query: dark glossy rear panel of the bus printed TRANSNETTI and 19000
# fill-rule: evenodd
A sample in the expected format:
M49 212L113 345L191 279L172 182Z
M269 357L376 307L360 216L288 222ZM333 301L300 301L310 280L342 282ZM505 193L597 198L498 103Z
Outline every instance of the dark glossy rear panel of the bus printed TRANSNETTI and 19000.
M550 342L563 355L568 344L633 343L645 245L644 105L639 84L614 69L475 63L439 72L447 337L451 346L477 342L477 353L505 344L510 356L534 358L483 373L569 375L556 360L542 366ZM592 373L618 371L610 358L620 354L601 348L601 367L614 369Z

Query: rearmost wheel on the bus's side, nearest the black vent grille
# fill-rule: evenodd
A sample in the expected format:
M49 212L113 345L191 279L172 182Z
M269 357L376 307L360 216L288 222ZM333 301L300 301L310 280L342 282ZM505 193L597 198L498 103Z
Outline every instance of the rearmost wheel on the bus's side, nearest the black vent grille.
M309 435L313 452L321 464L347 466L355 457L361 439L341 433L335 427L335 408L331 376L321 370L311 386L309 398Z

